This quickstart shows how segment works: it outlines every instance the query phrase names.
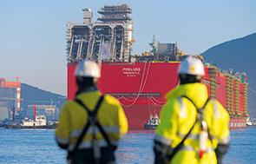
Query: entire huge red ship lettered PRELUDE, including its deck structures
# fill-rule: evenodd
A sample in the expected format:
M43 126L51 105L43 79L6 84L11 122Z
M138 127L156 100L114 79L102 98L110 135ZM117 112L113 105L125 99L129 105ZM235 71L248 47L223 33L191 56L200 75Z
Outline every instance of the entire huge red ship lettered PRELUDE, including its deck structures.
M167 102L164 96L178 84L177 69L185 55L177 43L158 43L155 38L149 45L153 50L142 56L131 56L134 42L133 23L127 4L105 5L98 11L102 14L97 23L92 23L92 12L83 10L83 23L68 23L68 100L75 98L75 66L83 59L102 62L102 76L97 87L104 95L115 96L121 102L128 117L129 128L144 128L148 119L159 115ZM103 46L107 44L108 47ZM102 60L102 49L108 57ZM196 56L204 62L202 56ZM213 63L204 63L209 98L217 99L231 116L230 128L246 127L247 82L245 73L220 71ZM148 124L151 121L148 122ZM148 125L147 124L147 125Z

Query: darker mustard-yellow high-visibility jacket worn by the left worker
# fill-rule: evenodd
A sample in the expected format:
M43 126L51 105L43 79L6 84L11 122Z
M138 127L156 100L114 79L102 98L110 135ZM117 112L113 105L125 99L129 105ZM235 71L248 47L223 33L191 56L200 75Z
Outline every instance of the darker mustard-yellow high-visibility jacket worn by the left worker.
M92 111L95 109L101 95L102 93L98 90L90 91L76 95L76 99L81 100ZM75 143L88 122L88 117L86 109L75 101L67 102L63 106L56 128L56 141L61 148L67 148L69 151L75 148ZM121 136L128 132L128 120L121 108L120 102L110 95L105 95L97 112L97 119L108 135L111 144L117 147ZM101 148L108 147L108 142L105 141L102 133L98 128L95 127L95 129L99 146ZM92 138L92 126L90 126L78 149L92 148Z

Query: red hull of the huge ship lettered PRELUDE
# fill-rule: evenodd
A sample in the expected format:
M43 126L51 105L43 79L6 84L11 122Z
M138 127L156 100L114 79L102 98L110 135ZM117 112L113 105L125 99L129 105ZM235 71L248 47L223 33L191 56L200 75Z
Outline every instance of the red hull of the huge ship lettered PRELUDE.
M102 77L97 86L103 94L113 95L117 98L128 117L130 129L143 129L149 116L160 114L165 104L164 96L177 84L178 62L135 62L135 63L102 63ZM75 98L77 90L75 85L75 66L68 65L68 100ZM209 69L204 76L209 96L212 93L212 82ZM217 72L217 100L226 108L226 75ZM240 85L243 85L242 83ZM240 87L243 93L243 86ZM235 97L235 96L233 96ZM243 94L240 94L240 113L244 113ZM235 100L234 100L235 101ZM233 103L234 104L234 103ZM228 111L230 112L230 111ZM231 119L230 128L246 127L246 118Z

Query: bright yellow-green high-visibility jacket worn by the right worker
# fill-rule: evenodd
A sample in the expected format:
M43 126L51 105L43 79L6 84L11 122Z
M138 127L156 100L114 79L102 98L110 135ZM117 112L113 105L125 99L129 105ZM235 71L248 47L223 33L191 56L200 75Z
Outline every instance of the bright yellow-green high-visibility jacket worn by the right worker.
M161 124L157 127L154 137L156 160L166 154L171 154L194 125L197 115L196 108L187 98L181 97L182 95L186 95L197 108L202 108L208 98L207 87L198 82L183 84L166 95L168 102L161 108ZM213 138L212 141L207 140L207 152L200 159L200 121L197 121L187 140L184 141L183 147L174 155L170 163L217 163L214 150L219 145L229 145L229 115L217 100L210 100L207 103L204 115L207 128ZM161 150L164 146L170 146L167 152ZM155 162L157 163L157 161Z

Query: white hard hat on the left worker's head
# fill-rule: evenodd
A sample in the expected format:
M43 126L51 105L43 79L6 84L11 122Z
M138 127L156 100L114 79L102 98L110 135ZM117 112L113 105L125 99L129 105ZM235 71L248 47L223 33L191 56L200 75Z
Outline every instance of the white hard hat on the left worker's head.
M75 76L99 78L101 70L96 62L84 60L76 67Z

